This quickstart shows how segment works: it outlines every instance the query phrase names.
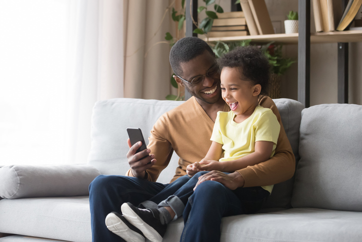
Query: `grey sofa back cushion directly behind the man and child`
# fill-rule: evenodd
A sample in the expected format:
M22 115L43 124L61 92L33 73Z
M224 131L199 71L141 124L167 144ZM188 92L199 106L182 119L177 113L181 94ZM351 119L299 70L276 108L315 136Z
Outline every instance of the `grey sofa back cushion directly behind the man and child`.
M298 159L300 112L303 105L291 99L275 99L285 132ZM158 101L117 98L99 101L92 114L91 149L88 164L94 165L102 174L124 175L129 169L126 154L126 128L140 128L148 144L150 130L165 112L180 105L181 101ZM168 183L178 166L178 156L173 153L168 166L157 181ZM267 207L285 207L290 204L292 180L274 186Z

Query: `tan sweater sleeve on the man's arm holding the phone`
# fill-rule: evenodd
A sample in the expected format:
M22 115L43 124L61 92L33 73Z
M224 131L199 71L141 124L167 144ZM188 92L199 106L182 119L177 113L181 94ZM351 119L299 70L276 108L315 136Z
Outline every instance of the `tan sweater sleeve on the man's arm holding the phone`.
M150 154L154 154L156 163L149 169L146 170L146 178L149 181L156 181L161 171L167 167L173 149L169 140L169 132L167 126L168 118L167 113L163 114L153 125L150 137L148 138L149 143L147 148L151 150ZM126 176L133 176L131 169L126 173Z

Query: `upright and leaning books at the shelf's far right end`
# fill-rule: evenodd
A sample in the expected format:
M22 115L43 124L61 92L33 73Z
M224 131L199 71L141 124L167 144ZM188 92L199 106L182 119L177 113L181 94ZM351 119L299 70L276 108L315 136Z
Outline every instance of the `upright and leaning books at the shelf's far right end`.
M343 31L353 21L362 0L349 0L344 10L341 0L312 0L316 32Z

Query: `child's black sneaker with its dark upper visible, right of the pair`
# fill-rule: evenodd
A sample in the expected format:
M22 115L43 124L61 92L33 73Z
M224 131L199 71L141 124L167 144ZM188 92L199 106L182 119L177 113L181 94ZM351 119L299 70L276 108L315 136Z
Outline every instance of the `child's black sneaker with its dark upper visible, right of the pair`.
M152 242L161 242L167 225L161 224L159 211L154 208L141 209L131 203L123 203L120 207L123 216Z

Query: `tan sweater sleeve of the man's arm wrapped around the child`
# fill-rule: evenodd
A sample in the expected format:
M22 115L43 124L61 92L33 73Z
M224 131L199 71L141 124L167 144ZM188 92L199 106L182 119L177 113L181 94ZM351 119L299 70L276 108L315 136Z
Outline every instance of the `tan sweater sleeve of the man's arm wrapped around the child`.
M295 171L295 157L281 123L279 111L271 98L267 96L262 96L259 99L259 104L273 111L280 124L280 132L273 157L259 164L237 170L245 180L244 187L280 183L291 178Z

